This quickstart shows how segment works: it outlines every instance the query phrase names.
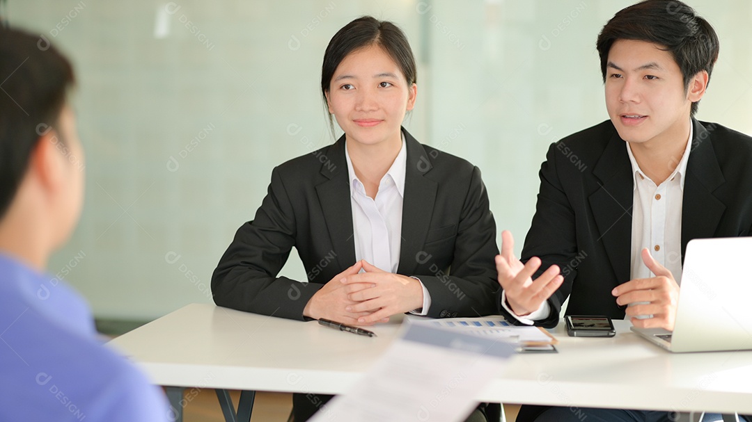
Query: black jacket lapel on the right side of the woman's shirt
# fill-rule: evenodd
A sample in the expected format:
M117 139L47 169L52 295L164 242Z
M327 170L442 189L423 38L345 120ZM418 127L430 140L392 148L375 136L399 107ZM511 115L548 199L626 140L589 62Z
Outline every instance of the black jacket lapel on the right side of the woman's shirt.
M405 198L402 200L402 246L397 273L411 274L418 264L415 255L423 247L429 231L438 185L426 177L433 168L426 149L404 128L402 131L405 134L408 159Z

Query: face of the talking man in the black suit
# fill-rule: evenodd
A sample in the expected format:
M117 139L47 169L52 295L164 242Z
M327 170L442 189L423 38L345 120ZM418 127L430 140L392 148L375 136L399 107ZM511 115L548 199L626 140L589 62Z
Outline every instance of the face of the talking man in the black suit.
M617 40L611 46L605 80L606 109L623 140L646 145L664 140L686 141L690 97L699 101L684 89L679 66L661 46L635 40Z

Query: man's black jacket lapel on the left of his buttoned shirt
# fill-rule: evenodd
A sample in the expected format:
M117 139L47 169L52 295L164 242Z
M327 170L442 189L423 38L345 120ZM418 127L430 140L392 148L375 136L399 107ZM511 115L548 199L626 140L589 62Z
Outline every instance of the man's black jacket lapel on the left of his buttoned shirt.
M611 261L617 283L629 280L632 255L632 164L624 141L614 133L593 168L600 188L590 195L590 209L596 220L598 240Z

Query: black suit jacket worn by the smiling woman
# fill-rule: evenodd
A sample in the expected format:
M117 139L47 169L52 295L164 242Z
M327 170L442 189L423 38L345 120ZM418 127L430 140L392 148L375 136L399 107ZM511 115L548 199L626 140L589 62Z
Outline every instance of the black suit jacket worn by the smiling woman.
M402 246L397 273L417 276L431 317L496 313L496 225L481 171L417 142L407 148ZM211 279L214 302L303 319L323 284L355 264L344 137L274 168L256 217L235 234ZM293 246L308 283L277 276Z

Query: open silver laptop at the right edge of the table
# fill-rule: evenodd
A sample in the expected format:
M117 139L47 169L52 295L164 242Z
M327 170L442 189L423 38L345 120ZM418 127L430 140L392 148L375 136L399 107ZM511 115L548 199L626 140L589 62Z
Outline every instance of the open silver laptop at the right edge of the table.
M752 349L752 237L687 244L674 331L632 327L669 351Z

